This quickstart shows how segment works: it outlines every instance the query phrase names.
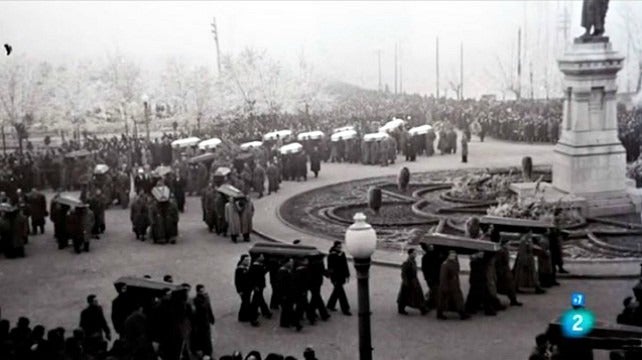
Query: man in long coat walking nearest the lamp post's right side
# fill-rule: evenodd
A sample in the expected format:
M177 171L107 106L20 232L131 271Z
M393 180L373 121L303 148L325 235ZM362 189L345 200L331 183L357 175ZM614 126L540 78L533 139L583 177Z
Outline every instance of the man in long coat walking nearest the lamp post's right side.
M397 295L397 312L408 315L406 306L419 309L421 314L428 312L426 309L426 299L421 289L421 283L417 278L417 264L415 249L408 250L408 258L401 264L401 288Z

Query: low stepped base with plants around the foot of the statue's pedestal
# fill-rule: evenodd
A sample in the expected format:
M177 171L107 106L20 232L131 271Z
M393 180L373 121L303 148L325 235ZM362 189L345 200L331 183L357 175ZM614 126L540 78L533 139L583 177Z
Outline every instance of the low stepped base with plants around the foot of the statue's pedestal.
M548 204L559 204L562 208L576 209L583 217L623 215L640 212L642 189L627 182L625 191L569 194L550 183L514 183L510 189L517 194L519 202L541 199ZM632 186L631 186L632 185Z

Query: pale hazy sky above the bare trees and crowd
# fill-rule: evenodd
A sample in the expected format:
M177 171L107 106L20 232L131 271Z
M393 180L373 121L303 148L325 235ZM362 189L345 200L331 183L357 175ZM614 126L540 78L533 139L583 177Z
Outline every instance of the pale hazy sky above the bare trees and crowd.
M533 63L539 90L541 79L555 77L564 7L572 20L569 38L581 34L581 1L0 2L0 42L35 60L104 58L118 51L151 72L171 57L214 69L210 23L216 16L223 53L261 48L286 65L303 54L324 76L369 88L377 88L377 49L383 51L384 83L393 87L399 42L404 90L432 93L439 36L440 87L458 78L463 41L465 91L479 95L497 90L499 62L506 72L515 67L519 27L526 44L525 74ZM611 0L607 34L623 54L624 14L633 14L636 26L642 26L642 1ZM633 49L629 54L636 61L627 74L635 78Z

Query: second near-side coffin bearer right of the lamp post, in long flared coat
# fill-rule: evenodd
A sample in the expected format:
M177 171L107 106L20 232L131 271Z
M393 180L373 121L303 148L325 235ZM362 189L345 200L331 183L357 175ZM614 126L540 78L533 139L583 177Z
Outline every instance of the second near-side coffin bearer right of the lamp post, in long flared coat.
M444 312L455 311L464 320L469 315L464 311L464 295L459 284L459 262L457 253L451 251L439 271L439 300L437 301L437 319L445 320Z

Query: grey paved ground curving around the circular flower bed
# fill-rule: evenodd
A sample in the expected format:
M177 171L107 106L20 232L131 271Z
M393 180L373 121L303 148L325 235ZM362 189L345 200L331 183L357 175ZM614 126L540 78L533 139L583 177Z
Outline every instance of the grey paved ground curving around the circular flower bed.
M459 155L421 157L418 162L397 162L386 168L351 164L322 164L318 179L307 182L285 182L278 194L255 201L255 230L268 237L290 242L301 238L304 244L327 250L330 242L289 229L276 216L276 209L290 196L341 181L396 175L401 166L411 171L430 171L449 168L479 168L518 166L522 156L533 157L535 165L550 163L552 146L512 144L498 141L470 144L469 163L462 164ZM401 157L399 158L401 159ZM252 328L236 321L240 304L234 289L234 270L238 257L252 245L233 244L207 232L201 221L200 199L188 199L186 213L179 223L180 239L176 245L152 245L136 241L131 232L129 210L110 209L106 215L107 233L93 241L91 252L76 255L72 250L57 250L52 239L52 226L47 233L31 237L27 257L18 260L0 258L0 306L3 317L12 323L26 315L32 324L47 328L64 326L68 333L78 325L79 313L89 293L98 295L109 316L111 300L116 291L114 280L123 275L149 274L160 278L172 274L178 283L203 283L208 289L216 316L214 331L215 356L234 350L247 352L258 349L301 356L311 345L320 359L357 358L356 281L354 277L346 290L354 316L333 313L328 322L304 327L301 333L278 327L278 318L262 321ZM253 241L258 240L258 236ZM400 256L399 254L393 254ZM394 263L387 254L375 259ZM570 265L590 267L591 264ZM637 263L610 265L625 268L628 273L639 271ZM576 268L581 269L581 268ZM351 269L352 271L353 269ZM614 272L619 270L613 270ZM353 271L354 273L354 271ZM421 279L425 288L423 278ZM534 338L543 332L547 323L569 307L573 291L587 295L587 307L598 320L614 322L622 308L622 300L631 294L637 280L568 279L562 286L545 295L523 295L523 308L510 308L497 317L474 316L471 320L438 321L434 312L427 316L412 313L400 316L396 312L396 295L400 283L399 269L393 266L373 266L371 270L371 307L375 359L521 359L534 345ZM468 278L462 276L464 293ZM324 297L331 290L326 281ZM269 296L269 291L268 294ZM603 358L603 357L602 357Z

